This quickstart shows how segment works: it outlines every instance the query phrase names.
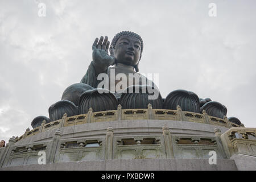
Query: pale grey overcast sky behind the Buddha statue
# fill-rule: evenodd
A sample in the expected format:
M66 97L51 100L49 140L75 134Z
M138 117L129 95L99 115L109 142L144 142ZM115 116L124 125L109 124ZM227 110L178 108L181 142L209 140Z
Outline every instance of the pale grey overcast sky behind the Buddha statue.
M0 0L0 139L20 137L32 119L49 117L49 106L86 73L94 39L123 30L141 35L139 72L159 73L163 98L189 90L256 127L254 0Z

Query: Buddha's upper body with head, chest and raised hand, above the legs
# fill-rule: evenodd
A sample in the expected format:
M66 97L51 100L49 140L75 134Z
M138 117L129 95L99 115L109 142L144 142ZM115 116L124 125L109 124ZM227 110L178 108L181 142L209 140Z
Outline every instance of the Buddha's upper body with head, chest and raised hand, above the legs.
M97 88L100 86L103 77L100 74L105 73L108 75L108 80L106 81L109 82L105 82L104 85L108 85L108 88L103 88L110 88L109 90L112 92L121 93L128 86L148 84L149 80L138 73L139 61L143 51L143 40L138 34L129 31L119 32L114 36L111 44L108 36L105 36L105 38L101 36L100 39L95 39L92 49L93 61L90 63L81 83ZM123 74L122 79L125 78L126 80L121 80L118 74ZM114 78L114 84L110 82L111 77ZM123 81L123 85L120 86L121 81ZM150 84L152 84L151 81Z

